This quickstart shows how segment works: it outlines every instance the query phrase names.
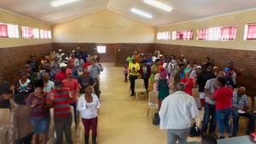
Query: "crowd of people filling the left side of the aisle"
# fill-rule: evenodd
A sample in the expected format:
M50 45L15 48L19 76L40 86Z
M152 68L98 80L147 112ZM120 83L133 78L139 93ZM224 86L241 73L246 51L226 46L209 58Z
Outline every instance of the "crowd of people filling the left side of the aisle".
M101 106L98 76L103 71L99 60L99 55L87 55L79 47L70 54L59 49L54 60L49 60L46 55L35 60L35 55L31 55L13 85L4 81L0 71L0 108L11 110L9 143L33 141L45 144L50 123L49 109L53 108L57 144L62 143L63 133L68 144L75 141L72 140L71 125L74 118L77 129L77 109L84 124L85 144L89 144L90 129L92 143L96 144L97 113ZM73 107L74 116L70 107ZM42 136L40 142L39 135Z

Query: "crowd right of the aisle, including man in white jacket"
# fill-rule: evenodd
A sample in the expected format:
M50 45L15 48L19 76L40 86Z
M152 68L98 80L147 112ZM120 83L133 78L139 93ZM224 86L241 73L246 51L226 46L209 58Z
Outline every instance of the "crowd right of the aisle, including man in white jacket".
M187 140L191 118L197 118L201 108L204 108L201 135L224 138L225 127L230 137L236 136L240 116L249 118L246 134L254 132L255 114L247 111L246 89L237 88L237 77L244 69L236 69L233 61L227 61L224 69L219 70L210 57L196 63L195 60L186 60L184 55L176 58L172 54L160 55L159 51L153 55L134 51L126 61L125 82L129 76L131 96L135 95L137 78L144 80L148 92L159 91L160 129L167 130L168 144ZM193 88L199 89L201 107L196 106L192 99ZM170 89L174 90L171 95ZM233 130L229 124L231 115ZM217 123L219 137L215 132Z

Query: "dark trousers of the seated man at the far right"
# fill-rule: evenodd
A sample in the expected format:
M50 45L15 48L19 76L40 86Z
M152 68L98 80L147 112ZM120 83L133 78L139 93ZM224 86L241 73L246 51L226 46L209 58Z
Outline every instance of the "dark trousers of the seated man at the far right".
M249 118L249 124L247 125L247 133L254 132L255 127L255 115L253 112L238 113L236 110L232 111L233 116L233 132L238 131L239 117L243 116Z

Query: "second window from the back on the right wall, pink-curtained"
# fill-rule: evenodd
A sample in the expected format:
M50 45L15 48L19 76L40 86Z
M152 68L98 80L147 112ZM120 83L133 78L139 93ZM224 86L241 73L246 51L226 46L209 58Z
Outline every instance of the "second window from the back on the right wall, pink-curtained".
M172 32L172 39L190 40L193 39L193 30L182 30Z

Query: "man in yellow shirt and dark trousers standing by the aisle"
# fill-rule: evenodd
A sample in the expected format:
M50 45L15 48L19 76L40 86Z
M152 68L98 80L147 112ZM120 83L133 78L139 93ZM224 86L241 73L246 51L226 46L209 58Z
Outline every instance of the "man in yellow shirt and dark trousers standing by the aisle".
M130 73L130 88L131 88L131 96L134 95L134 87L135 87L135 79L139 74L140 64L136 62L136 58L132 57L132 63L129 64L129 73Z

